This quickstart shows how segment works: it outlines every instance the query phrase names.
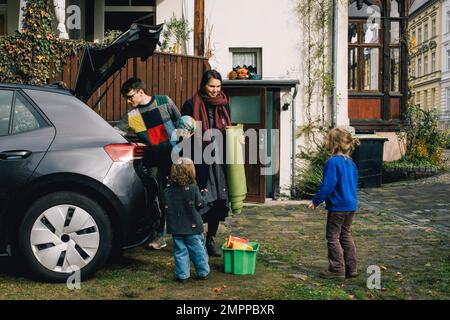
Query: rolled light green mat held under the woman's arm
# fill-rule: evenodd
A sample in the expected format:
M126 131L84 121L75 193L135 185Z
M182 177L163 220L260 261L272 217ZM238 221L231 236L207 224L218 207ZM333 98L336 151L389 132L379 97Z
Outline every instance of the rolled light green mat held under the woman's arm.
M244 134L244 126L242 124L229 126L225 131L228 193L231 201L231 211L240 213L247 196L244 145L240 143L240 138Z

